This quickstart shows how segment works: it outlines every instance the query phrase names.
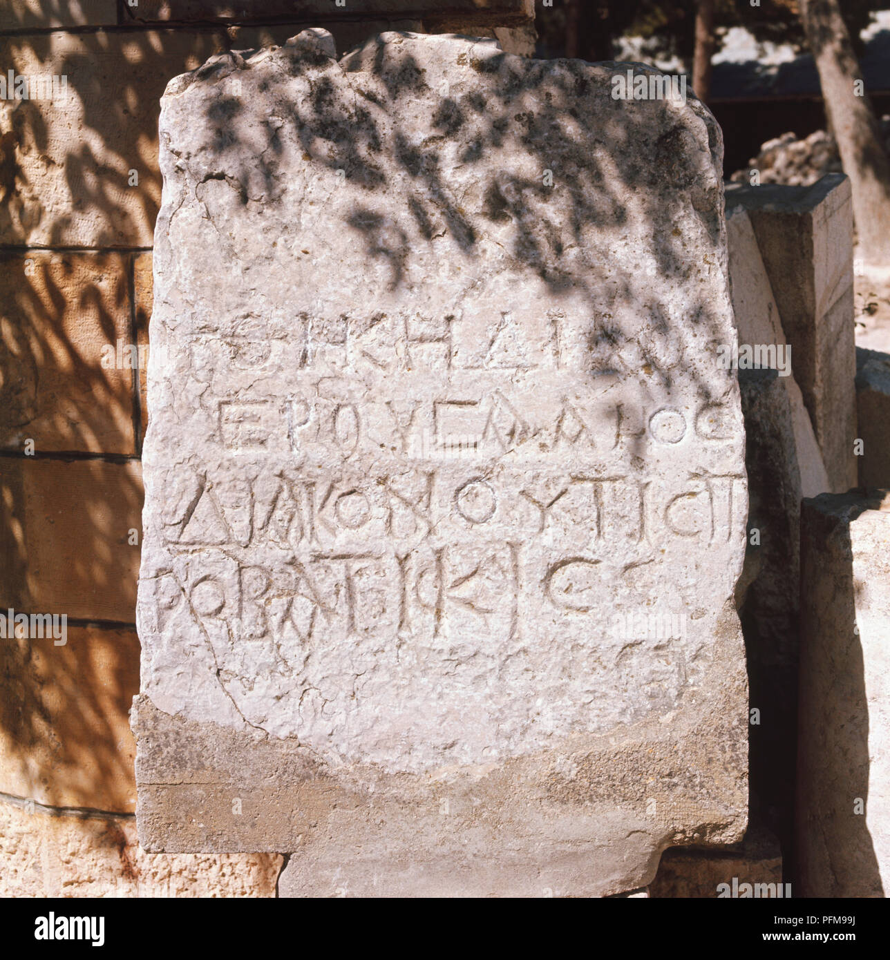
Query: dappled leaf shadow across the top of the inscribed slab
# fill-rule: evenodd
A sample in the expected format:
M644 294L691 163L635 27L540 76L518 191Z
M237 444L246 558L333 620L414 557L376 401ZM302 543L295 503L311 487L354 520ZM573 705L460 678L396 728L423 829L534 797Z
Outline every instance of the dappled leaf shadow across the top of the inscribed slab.
M233 70L250 69L251 53L219 58L219 78L232 75ZM327 63L329 71L341 70L337 61ZM483 241L492 237L493 228L507 224L512 235L509 269L517 279L529 274L539 277L551 292L554 306L565 295L580 292L594 321L591 351L611 352L615 372L636 376L641 400L650 395L652 385L669 391L681 371L679 379L694 381L705 402L718 402L731 389L730 375L709 382L683 362L684 339L693 336L710 344L716 357L717 341L725 338L720 334L718 305L705 298L694 303L681 335L669 319L666 303L655 296L648 302L641 300L643 284L636 264L622 263L617 255L597 262L589 250L592 231L597 231L600 243L612 234L615 249L619 248L629 228L631 207L641 208L650 225L646 246L655 253L661 277L676 276L678 282L685 282L690 269L681 230L664 229L672 213L679 220L691 207L710 241L720 242L722 142L716 124L707 119L708 152L718 173L706 181L701 166L695 165L701 158L701 130L692 128L710 115L697 100L690 99L686 110L665 120L667 108L662 102L615 102L609 96L609 84L602 79L591 84L588 68L576 61L530 63L501 53L471 64L480 75L489 75L486 94L471 89L442 95L430 117L429 132L421 138L406 126L407 111L418 97L435 91L430 91L424 69L410 52L385 60L378 50L370 71L348 71L345 78L354 88L351 102L335 95L339 84L327 73L318 79L318 66L318 60L292 61L295 75L313 72L311 95L304 101L288 100L283 85L281 90L274 84L269 89L270 102L262 109L283 122L259 156L245 156L243 144L237 141L221 156L227 176L253 184L253 199L261 203L280 195L288 176L286 168L279 166L286 132L301 143L310 172L340 171L350 184L367 192L367 203L355 204L345 226L358 233L372 260L382 259L389 265L391 290L406 282L408 252L420 245L436 250L437 241L445 236L464 260L461 269L471 276L484 256ZM547 103L530 109L529 94L545 96ZM596 132L579 129L583 110L552 106L579 104L591 97L602 98L604 119ZM478 167L479 176L487 178L481 209L468 210L452 189L453 160L445 156L446 147L461 138L466 145L460 164ZM594 152L591 138L597 148ZM384 159L387 141L391 149ZM511 142L521 156L536 161L539 169L534 177L517 169L491 169L493 150ZM621 156L621 164L610 164L612 156ZM559 169L553 169L556 163ZM395 169L387 169L387 164L395 164ZM553 173L555 186L544 184L542 175L547 170ZM666 204L665 197L670 198ZM394 203L402 210L393 208ZM406 224L413 224L414 230L407 232ZM569 255L574 259L566 265ZM583 269L579 269L579 258ZM613 312L637 310L639 323L617 322L603 315L603 289L612 291ZM716 389L715 382L719 382ZM641 455L641 447L635 452Z

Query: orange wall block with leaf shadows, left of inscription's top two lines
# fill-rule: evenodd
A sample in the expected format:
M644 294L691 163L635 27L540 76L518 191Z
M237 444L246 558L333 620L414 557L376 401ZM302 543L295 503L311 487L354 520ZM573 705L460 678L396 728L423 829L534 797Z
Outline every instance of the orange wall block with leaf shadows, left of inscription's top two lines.
M0 304L0 446L135 452L126 257L0 254Z

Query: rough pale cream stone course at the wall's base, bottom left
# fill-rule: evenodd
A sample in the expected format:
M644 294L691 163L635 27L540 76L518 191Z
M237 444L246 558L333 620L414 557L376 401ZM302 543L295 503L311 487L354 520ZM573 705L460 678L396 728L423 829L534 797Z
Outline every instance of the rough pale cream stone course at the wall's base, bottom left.
M0 803L0 897L275 897L277 853L147 853L129 817Z

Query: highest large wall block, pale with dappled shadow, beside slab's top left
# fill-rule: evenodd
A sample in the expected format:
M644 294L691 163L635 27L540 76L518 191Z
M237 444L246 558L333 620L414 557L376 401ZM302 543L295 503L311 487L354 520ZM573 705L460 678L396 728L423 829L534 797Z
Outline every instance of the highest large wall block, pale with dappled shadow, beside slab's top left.
M343 49L381 29L384 22L332 25ZM140 30L113 41L101 31L4 37L4 70L66 82L64 95L50 99L0 100L0 244L151 247L165 85L215 53L283 43L293 33L269 25Z

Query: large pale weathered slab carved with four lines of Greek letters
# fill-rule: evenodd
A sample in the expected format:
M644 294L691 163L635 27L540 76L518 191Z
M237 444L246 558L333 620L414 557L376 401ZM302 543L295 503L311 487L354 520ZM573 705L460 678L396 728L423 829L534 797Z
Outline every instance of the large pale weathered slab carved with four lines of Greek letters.
M722 142L616 72L315 31L168 86L146 849L597 896L741 837Z

